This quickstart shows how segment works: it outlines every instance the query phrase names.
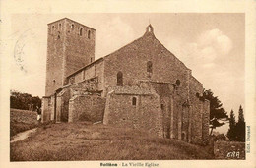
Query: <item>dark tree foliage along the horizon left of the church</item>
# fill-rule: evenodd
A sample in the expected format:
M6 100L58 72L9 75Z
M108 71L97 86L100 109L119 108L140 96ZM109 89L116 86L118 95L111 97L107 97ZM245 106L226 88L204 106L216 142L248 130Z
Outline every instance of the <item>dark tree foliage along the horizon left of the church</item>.
M28 93L11 90L10 107L22 110L31 110L31 107L41 107L41 99L38 96L32 96ZM35 109L35 108L33 108Z

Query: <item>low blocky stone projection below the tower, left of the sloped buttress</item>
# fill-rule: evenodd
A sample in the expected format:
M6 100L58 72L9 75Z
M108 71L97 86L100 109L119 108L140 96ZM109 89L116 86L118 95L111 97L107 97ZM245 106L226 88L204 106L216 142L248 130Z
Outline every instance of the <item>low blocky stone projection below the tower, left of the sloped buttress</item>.
M69 122L103 121L105 98L97 95L77 95L69 101Z

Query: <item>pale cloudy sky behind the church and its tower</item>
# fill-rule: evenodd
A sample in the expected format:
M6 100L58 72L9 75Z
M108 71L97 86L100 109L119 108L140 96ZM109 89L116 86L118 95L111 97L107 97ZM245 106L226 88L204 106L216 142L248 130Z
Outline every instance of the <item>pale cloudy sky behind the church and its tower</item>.
M244 106L244 14L15 14L10 52L11 89L42 97L45 93L47 24L70 18L96 29L96 59L141 37L151 24L160 42L211 89L224 109ZM228 127L228 126L226 126Z

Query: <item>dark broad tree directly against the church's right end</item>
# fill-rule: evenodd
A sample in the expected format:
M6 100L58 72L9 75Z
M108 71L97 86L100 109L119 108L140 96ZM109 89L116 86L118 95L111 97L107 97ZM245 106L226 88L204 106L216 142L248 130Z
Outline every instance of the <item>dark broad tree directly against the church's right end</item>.
M217 96L214 96L214 93L211 89L204 90L202 98L210 101L210 135L212 135L213 129L224 125L224 122L220 122L220 120L227 120L228 116L222 107L223 104Z

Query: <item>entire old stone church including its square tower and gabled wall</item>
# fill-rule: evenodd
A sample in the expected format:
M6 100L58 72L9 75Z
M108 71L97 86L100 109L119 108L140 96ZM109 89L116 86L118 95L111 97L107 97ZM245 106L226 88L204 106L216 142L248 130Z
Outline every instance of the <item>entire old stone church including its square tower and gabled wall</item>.
M97 60L95 40L96 29L68 18L48 24L42 122L102 122L162 138L208 140L210 103L201 98L203 85L151 25Z

